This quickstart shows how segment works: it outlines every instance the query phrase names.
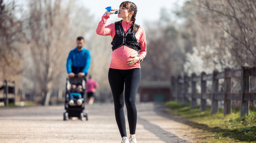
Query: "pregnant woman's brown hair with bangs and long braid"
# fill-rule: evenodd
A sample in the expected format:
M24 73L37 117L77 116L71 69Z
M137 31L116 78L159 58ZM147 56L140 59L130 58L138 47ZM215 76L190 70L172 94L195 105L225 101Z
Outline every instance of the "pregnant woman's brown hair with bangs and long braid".
M137 28L135 27L135 21L136 21L136 14L137 14L137 6L133 3L133 2L130 2L130 1L124 1L120 4L119 7L124 7L124 8L127 8L129 9L129 11L133 11L133 15L132 15L132 22L133 22L133 32L137 30ZM121 20L122 21L122 20ZM119 21L120 22L120 21ZM118 22L117 22L118 23Z

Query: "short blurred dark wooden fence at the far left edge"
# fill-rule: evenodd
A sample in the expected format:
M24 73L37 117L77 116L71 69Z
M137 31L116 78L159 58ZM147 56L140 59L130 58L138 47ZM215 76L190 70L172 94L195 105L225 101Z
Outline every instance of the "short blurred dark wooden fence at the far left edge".
M4 80L0 84L0 102L4 102L5 105L9 103L15 103L15 82Z

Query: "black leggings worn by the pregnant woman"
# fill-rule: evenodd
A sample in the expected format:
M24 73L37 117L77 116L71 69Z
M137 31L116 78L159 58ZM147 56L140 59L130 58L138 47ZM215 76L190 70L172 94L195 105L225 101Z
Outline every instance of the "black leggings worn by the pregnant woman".
M135 96L139 87L140 79L140 68L129 70L109 69L108 71L108 80L115 105L115 116L121 137L127 136L123 111L124 101L127 109L130 134L135 134L137 124Z

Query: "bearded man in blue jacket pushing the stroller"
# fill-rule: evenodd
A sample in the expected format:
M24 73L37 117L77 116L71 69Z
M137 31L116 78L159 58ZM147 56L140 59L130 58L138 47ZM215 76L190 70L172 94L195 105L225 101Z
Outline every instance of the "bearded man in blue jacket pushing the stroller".
M90 52L83 47L84 38L77 37L76 43L77 46L69 52L67 59L66 67L69 77L74 77L75 74L78 74L78 77L87 75L91 63Z

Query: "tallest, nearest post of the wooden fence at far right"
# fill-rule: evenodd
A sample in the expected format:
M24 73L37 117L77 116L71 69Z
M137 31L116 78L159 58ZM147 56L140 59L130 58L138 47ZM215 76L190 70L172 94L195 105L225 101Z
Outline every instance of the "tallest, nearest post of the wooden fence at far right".
M241 118L249 115L249 101L245 101L245 92L248 92L250 87L250 76L245 76L245 70L247 68L249 68L249 65L245 63L241 69Z

